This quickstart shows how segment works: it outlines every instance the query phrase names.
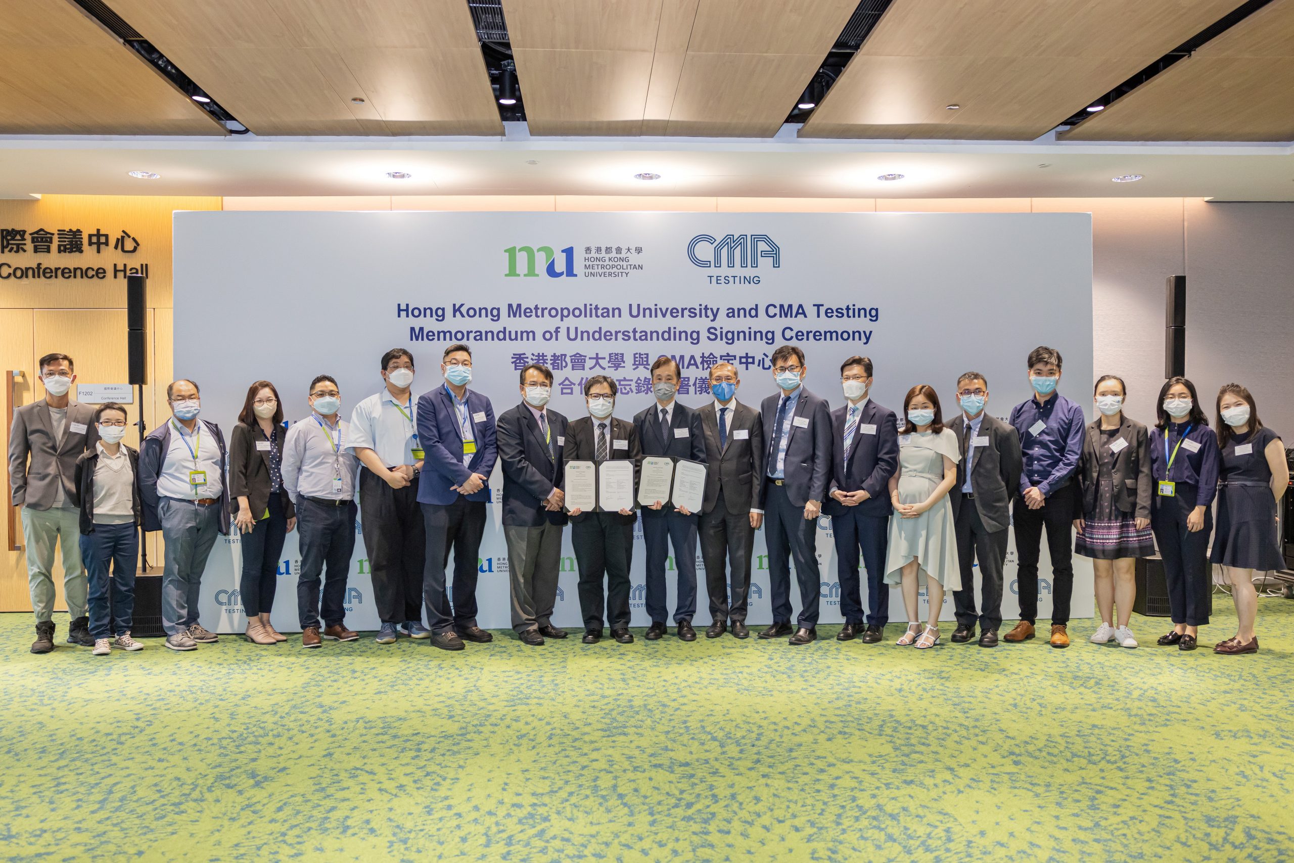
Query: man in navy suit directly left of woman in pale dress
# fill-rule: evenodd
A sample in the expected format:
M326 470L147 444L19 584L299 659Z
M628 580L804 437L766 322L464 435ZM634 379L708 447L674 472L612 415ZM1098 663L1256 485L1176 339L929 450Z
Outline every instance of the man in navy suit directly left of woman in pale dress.
M885 551L889 541L889 480L898 470L898 421L868 397L872 361L849 357L840 366L845 406L831 413L832 481L827 515L836 541L840 606L845 615L837 640L884 638L889 622ZM867 567L867 629L863 629L858 555Z

